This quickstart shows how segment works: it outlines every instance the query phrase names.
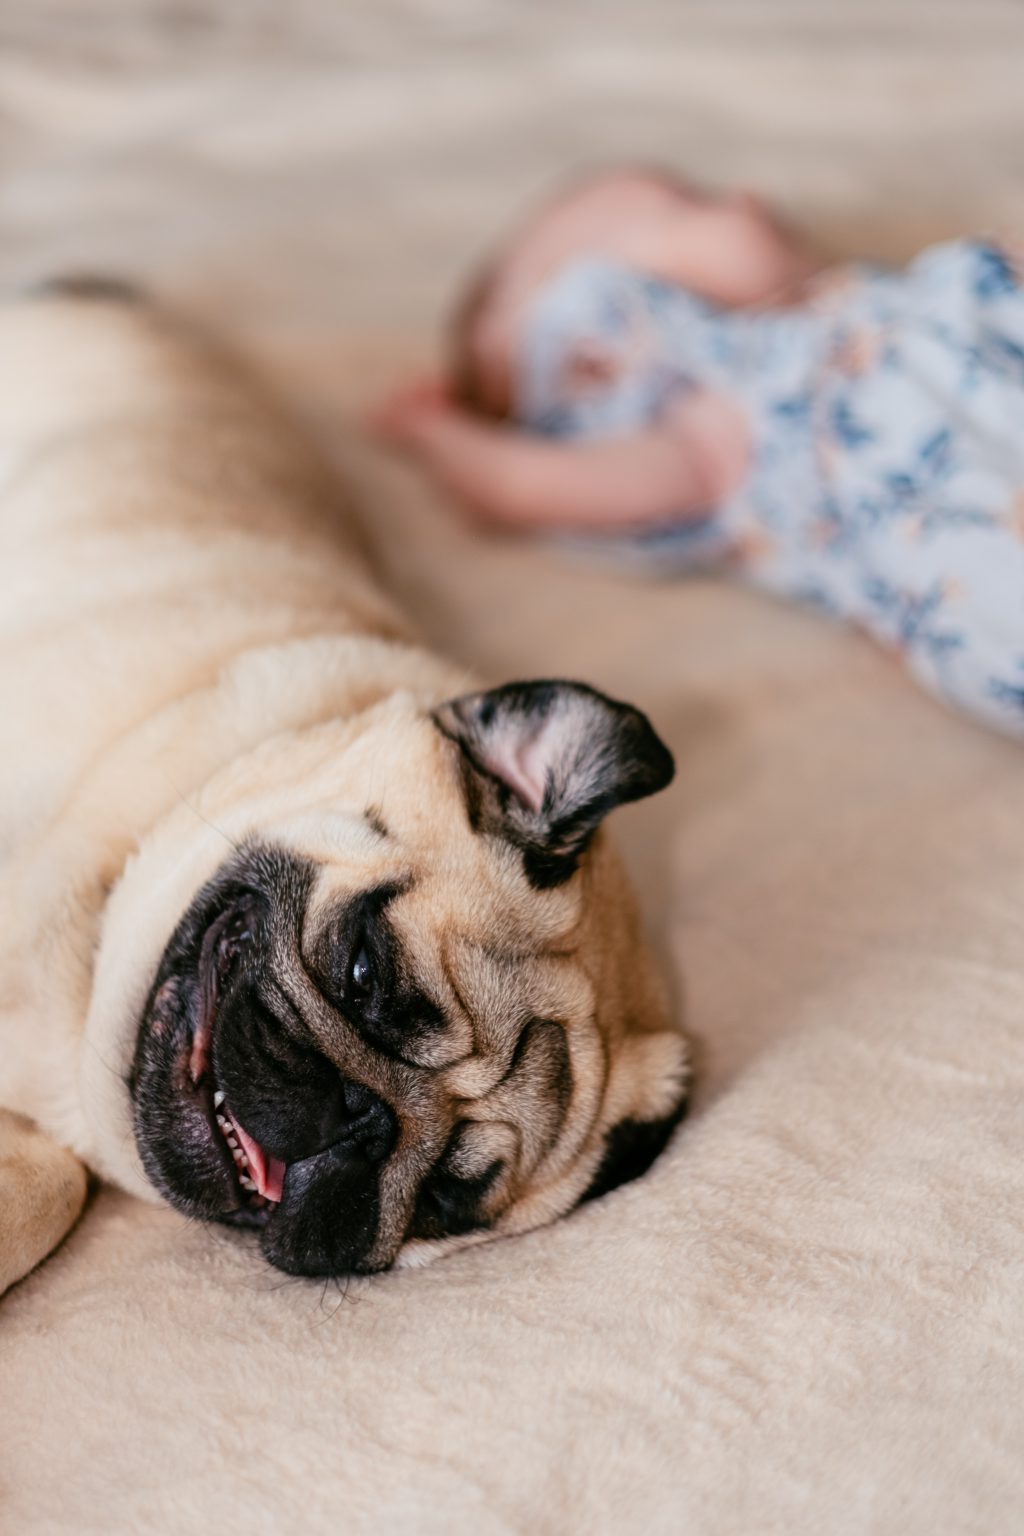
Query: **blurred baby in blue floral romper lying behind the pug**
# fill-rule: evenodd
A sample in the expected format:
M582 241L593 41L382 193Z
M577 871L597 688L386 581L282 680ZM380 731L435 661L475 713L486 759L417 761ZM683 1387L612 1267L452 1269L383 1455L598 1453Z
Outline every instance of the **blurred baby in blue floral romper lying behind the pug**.
M1024 736L1024 287L956 241L824 269L749 197L603 175L459 307L378 430L493 524L728 564Z

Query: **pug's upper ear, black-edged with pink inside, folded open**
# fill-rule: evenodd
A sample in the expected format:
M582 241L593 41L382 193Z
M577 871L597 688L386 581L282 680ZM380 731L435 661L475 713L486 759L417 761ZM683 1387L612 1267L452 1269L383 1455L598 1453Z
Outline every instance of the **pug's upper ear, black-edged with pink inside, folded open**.
M433 719L461 750L470 823L520 848L542 891L570 879L609 811L674 773L639 710L580 682L510 682Z

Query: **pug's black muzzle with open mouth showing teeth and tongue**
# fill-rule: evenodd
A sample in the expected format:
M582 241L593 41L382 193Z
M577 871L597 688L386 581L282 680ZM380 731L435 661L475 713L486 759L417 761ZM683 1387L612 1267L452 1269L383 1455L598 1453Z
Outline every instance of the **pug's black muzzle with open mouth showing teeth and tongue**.
M246 857L250 879L213 880L164 952L130 1077L140 1155L180 1210L259 1227L279 1269L365 1272L396 1118L315 1049L279 978L309 876Z

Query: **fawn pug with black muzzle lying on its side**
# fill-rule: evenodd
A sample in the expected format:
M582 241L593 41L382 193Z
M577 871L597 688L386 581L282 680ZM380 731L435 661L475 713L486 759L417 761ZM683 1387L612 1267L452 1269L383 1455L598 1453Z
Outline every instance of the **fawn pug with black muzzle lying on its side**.
M86 1169L350 1275L651 1164L643 714L416 644L279 406L104 284L0 313L0 1289Z

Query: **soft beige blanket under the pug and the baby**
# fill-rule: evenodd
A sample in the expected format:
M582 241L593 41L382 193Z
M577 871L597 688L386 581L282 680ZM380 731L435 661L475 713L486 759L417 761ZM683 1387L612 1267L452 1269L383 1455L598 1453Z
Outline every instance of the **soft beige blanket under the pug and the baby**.
M1013 0L6 0L0 276L141 272L347 467L427 633L651 711L619 836L702 1041L640 1184L338 1289L100 1192L0 1307L0 1530L1015 1536L1024 759L854 634L462 531L353 412L563 167L900 255L1024 223Z

